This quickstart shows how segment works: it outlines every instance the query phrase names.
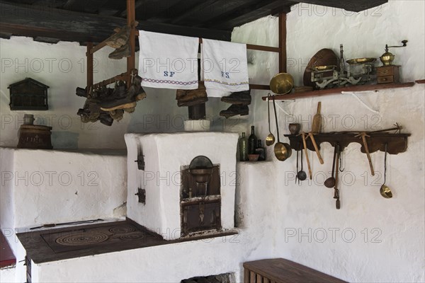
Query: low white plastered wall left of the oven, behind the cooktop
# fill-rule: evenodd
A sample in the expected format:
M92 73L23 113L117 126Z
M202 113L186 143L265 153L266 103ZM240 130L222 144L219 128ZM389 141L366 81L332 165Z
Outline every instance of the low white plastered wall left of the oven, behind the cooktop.
M0 224L16 252L16 229L49 223L123 218L123 153L0 148Z

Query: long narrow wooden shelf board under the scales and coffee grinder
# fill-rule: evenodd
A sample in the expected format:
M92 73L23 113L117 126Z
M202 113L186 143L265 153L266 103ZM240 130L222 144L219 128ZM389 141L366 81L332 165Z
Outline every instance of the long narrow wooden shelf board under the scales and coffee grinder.
M342 88L321 89L319 91L306 91L302 93L279 94L274 96L275 100L295 100L300 98L310 98L316 96L329 96L332 94L341 94L341 91L378 91L385 88L410 88L414 86L414 82L409 83L382 83L362 86L345 86ZM263 100L267 100L267 96L263 96Z

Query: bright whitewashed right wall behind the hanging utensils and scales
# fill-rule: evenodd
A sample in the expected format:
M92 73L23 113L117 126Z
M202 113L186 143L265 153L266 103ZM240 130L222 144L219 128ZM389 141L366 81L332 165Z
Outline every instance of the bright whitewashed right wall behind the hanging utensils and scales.
M379 57L385 44L408 47L394 49L395 64L402 65L402 81L424 79L424 1L389 1L361 13L300 4L288 13L288 72L302 84L305 65L322 48L339 54L344 44L346 59ZM233 41L277 46L277 18L263 18L236 28ZM267 35L267 36L266 36ZM259 42L261 38L263 41ZM266 60L257 54L254 66ZM276 66L277 60L274 62ZM271 62L273 68L273 62ZM259 71L261 74L261 71ZM412 133L407 152L388 156L387 185L394 197L379 194L383 183L382 152L372 154L375 177L370 175L360 144L351 144L342 154L344 173L340 182L341 210L335 209L333 190L323 185L331 171L332 148L322 144L324 165L310 151L312 182L295 185L296 155L276 161L275 256L294 260L349 282L424 282L424 93L423 84L412 88L358 93L371 109L349 94L279 102L280 138L289 122L302 123L308 132L317 102L322 101L324 132L370 130L392 127L395 122ZM254 99L254 125L266 137L267 109L261 96ZM272 120L273 121L273 120ZM276 128L272 122L272 131ZM307 171L306 163L304 163ZM355 234L354 234L355 233Z

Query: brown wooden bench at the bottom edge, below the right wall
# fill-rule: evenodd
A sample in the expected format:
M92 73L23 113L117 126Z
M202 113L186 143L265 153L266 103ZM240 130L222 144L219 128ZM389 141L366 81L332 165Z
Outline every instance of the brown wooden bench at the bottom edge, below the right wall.
M244 262L244 283L284 282L342 283L345 281L283 258Z

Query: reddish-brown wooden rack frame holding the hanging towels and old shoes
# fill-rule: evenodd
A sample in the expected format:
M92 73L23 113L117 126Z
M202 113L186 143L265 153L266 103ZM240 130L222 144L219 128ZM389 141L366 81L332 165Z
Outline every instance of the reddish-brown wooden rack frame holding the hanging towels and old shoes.
M131 71L135 69L135 43L136 36L139 32L135 27L135 0L127 0L127 25L131 27L130 29L130 47L131 54L127 58L127 71L123 74L113 76L111 79L106 79L104 81L94 83L93 71L94 71L94 61L93 54L94 52L101 50L106 46L106 40L94 46L93 42L87 42L87 88L90 89L98 88L101 86L108 86L108 84L114 83L115 81L121 80L126 81L127 86L130 86L131 81ZM199 40L202 43L202 39ZM263 45L246 45L246 48L249 50L259 50L264 52L276 52L279 54L279 72L286 72L286 13L279 13L279 47L269 47ZM251 89L261 89L261 90L270 90L268 85L259 85L259 84L250 84Z

